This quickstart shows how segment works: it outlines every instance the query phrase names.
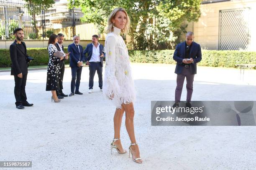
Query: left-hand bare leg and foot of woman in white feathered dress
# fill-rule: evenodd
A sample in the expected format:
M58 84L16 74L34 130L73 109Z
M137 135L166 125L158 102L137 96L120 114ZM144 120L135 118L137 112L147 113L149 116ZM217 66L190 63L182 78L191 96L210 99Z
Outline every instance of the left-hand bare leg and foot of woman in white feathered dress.
M115 139L120 139L120 128L121 128L121 124L122 124L122 118L123 118L123 113L124 113L124 108L122 107L122 109L116 109L115 110L115 115L114 115L114 138ZM120 140L116 140L114 143L114 145L117 146L118 150L123 153L123 147L121 144Z

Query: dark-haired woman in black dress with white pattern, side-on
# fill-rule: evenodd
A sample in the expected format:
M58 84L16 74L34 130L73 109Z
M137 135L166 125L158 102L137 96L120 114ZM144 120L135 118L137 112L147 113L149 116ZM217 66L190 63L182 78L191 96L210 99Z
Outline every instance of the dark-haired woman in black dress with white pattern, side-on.
M58 42L57 35L51 34L47 47L49 52L49 63L47 67L46 91L51 91L51 101L54 100L54 102L60 102L56 95L56 90L60 90L59 81L61 81L61 72L59 62L63 60L64 57L54 57L54 53L57 52L57 47L55 46L56 42Z

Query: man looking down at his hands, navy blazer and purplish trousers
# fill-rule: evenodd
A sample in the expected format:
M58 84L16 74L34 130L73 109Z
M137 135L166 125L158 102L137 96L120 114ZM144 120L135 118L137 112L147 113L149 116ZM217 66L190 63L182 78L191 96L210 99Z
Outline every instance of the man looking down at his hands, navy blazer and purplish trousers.
M197 62L202 60L201 47L194 41L194 33L187 32L186 41L177 45L173 59L177 61L175 73L177 74L177 87L175 90L175 103L173 107L179 107L184 79L187 80L186 107L191 107L190 101L193 92L194 76L197 73Z

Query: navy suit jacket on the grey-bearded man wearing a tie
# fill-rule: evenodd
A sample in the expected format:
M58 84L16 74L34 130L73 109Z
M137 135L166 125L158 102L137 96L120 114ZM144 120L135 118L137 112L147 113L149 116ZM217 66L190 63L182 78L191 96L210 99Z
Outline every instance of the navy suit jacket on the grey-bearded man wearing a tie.
M79 47L80 52L78 51L77 46L74 45L74 43L72 43L68 46L68 52L70 52L69 67L78 67L77 62L85 60L84 53L83 53L83 47L81 45L78 45L78 47Z

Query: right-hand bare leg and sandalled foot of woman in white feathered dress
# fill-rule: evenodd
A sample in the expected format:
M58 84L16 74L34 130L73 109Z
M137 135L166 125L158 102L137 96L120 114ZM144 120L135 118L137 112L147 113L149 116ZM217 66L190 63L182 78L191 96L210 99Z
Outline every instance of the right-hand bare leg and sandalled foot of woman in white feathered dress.
M122 104L125 110L125 127L130 137L131 143L136 143L135 134L134 134L134 125L133 125L133 117L134 117L134 108L133 103L130 104ZM133 153L133 159L140 158L140 150L138 145L132 145L131 151ZM136 160L136 162L142 162L142 160Z

